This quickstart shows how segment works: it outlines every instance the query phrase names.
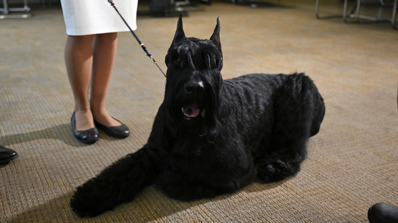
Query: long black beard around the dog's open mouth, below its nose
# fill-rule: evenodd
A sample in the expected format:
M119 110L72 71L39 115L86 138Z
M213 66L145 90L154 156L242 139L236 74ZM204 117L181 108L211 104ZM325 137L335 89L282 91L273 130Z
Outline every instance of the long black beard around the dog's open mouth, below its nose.
M170 122L180 134L204 136L206 142L214 142L221 128L218 120L221 75L217 73L215 77L202 77L204 91L187 94L184 86L188 80L178 79L180 76L175 74L170 73L168 76L164 98Z

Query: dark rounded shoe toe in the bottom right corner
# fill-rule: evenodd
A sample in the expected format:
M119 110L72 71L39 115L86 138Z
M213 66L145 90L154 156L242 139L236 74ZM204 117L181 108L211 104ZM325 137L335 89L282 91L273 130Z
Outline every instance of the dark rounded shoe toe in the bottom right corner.
M374 204L367 211L367 218L370 223L398 222L398 207L386 203Z

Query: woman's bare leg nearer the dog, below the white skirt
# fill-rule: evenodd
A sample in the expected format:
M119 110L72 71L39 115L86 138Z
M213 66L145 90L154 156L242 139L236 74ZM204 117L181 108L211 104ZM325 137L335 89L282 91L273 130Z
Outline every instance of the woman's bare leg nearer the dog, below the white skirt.
M116 59L117 33L95 35L91 80L91 111L95 120L105 126L119 126L105 108L105 97Z

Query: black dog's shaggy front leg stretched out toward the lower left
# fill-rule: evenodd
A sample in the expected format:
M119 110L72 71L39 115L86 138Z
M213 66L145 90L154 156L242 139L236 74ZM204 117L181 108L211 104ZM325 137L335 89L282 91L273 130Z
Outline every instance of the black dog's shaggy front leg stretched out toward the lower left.
M154 179L154 166L142 148L123 157L77 188L70 206L80 217L93 217L132 201Z

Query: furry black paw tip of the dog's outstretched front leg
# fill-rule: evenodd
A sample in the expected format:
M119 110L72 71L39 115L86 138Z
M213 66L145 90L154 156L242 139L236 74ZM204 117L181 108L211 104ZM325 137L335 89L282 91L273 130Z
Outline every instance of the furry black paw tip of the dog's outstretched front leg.
M70 207L79 217L95 217L112 209L109 203L104 202L106 194L95 183L95 178L77 188L70 199Z

